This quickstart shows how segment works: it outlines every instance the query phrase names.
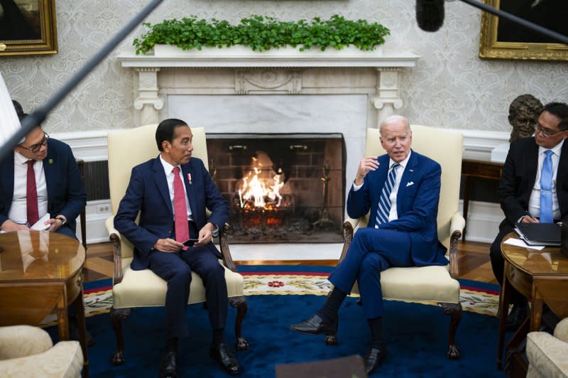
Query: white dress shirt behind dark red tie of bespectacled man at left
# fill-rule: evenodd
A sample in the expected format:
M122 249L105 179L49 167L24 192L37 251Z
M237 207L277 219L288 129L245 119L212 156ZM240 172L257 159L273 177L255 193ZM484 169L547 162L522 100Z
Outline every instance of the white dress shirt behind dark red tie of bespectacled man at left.
M13 195L12 205L8 214L12 222L25 225L28 220L27 183L28 183L28 158L21 153L13 153ZM38 192L38 216L41 218L48 213L48 186L45 183L45 171L43 160L33 163L35 172L35 190Z

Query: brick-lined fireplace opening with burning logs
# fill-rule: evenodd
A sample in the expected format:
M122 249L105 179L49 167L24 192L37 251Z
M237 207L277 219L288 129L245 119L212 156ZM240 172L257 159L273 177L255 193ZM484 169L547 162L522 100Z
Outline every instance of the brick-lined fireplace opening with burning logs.
M207 134L231 242L342 242L342 134Z

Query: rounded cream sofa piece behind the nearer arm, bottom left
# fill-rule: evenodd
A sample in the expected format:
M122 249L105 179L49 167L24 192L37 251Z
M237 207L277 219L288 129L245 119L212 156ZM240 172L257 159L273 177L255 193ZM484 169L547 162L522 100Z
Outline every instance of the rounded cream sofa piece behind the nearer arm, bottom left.
M45 330L31 325L0 327L0 360L43 353L53 347Z

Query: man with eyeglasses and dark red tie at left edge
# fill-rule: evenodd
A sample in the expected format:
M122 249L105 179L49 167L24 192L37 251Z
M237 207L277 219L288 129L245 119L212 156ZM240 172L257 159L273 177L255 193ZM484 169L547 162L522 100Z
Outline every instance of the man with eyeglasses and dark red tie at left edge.
M70 146L50 139L41 126L0 161L0 229L4 232L29 229L49 214L45 229L77 239L75 219L86 202Z

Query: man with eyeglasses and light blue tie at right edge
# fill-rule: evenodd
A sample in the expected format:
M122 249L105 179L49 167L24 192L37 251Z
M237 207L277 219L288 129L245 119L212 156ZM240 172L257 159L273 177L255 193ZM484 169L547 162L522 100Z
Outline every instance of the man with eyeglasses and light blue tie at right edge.
M546 104L535 134L510 144L499 181L499 197L505 219L491 244L491 266L499 284L503 284L505 261L501 241L518 222L558 222L568 215L568 105ZM513 288L513 309L507 318L507 330L516 330L528 317L527 300Z

